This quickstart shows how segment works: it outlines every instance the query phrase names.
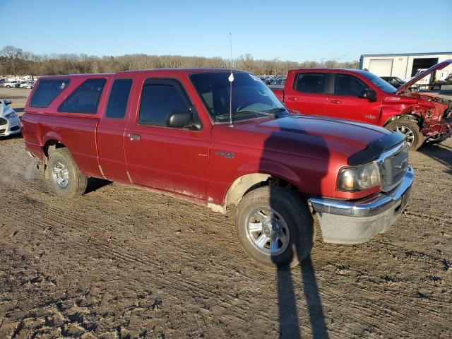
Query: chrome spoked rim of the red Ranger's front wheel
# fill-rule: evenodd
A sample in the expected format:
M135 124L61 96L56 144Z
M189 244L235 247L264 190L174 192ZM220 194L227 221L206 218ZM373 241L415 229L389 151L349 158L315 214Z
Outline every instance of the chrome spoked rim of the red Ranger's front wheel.
M253 246L268 256L283 253L290 242L289 227L273 208L259 207L246 218L246 237Z

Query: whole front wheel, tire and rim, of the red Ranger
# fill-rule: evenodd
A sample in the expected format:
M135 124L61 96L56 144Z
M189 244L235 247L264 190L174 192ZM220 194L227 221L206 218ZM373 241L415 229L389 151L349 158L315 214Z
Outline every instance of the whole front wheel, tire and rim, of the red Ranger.
M312 215L289 189L266 186L249 192L237 206L235 222L244 250L262 265L295 266L311 252Z

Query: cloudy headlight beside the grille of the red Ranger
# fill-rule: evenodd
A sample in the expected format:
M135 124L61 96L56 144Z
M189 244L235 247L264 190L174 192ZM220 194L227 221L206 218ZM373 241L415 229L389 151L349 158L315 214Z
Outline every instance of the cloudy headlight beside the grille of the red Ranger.
M380 184L380 172L376 162L357 167L344 167L339 172L339 191L363 191Z

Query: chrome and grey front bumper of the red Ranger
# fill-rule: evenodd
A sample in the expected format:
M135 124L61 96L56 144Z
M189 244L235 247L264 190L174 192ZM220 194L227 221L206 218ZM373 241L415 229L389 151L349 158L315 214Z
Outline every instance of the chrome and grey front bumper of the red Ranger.
M414 179L408 167L402 182L388 194L376 194L359 201L310 198L318 215L324 242L359 244L385 232L408 203Z

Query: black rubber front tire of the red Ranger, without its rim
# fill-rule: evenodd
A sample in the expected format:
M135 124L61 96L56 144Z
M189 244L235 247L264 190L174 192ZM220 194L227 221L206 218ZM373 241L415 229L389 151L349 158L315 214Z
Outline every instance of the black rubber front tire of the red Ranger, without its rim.
M263 253L251 239L252 235L249 235L250 215L260 208L272 208L283 218L284 225L290 232L288 245L281 253ZM265 186L246 194L237 206L235 218L237 236L246 254L258 263L272 268L292 267L309 256L313 245L313 224L306 202L295 192L281 186ZM262 235L264 231L260 233ZM285 236L287 237L287 234ZM281 246L280 250L283 249L284 246Z

